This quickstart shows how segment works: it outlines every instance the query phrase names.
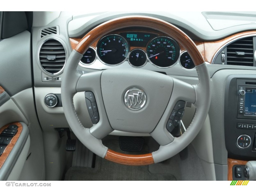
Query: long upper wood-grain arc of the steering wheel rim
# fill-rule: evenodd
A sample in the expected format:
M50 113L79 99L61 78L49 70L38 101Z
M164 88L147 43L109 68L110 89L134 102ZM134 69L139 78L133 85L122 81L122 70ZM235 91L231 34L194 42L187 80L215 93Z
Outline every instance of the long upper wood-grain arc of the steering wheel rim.
M127 16L109 20L87 33L77 44L74 50L83 54L92 43L100 37L124 27L154 27L154 29L173 37L189 53L195 66L204 63L202 54L198 51L194 41L192 41L183 31L174 25L160 19L146 16Z

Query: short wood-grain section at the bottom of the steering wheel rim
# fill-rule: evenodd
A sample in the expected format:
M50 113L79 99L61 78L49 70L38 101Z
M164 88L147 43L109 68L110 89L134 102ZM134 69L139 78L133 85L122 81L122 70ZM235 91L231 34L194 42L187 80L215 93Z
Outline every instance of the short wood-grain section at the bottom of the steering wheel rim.
M152 153L144 155L127 155L108 150L105 159L123 165L150 165L154 163Z

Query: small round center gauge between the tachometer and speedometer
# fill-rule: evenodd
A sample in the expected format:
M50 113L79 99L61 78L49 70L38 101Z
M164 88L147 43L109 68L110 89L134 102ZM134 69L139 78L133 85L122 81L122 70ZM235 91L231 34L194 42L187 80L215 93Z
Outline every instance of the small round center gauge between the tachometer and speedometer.
M147 56L145 51L142 49L133 49L130 52L128 61L133 67L143 67L147 62Z

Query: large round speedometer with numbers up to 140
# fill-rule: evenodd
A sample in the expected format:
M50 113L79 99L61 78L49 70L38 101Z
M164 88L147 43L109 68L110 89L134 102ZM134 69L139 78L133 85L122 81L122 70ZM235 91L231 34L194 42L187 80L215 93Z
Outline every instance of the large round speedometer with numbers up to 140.
M147 57L157 67L171 67L178 61L179 56L180 48L177 42L169 37L156 37L147 45Z

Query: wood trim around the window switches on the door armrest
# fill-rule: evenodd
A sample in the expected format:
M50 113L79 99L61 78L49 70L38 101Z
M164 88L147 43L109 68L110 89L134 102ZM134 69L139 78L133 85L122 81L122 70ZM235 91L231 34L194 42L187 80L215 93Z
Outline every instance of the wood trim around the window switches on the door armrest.
M19 122L15 122L15 123L9 123L5 126L3 126L0 129L0 134L2 133L3 130L5 130L9 125L17 125L18 126L18 132L16 133L16 135L14 135L14 137L12 138L11 142L9 143L9 145L7 145L7 147L4 150L4 153L0 156L0 169L3 166L5 160L7 159L8 155L10 154L10 152L12 151L15 143L17 142L20 133L22 132L22 124Z

